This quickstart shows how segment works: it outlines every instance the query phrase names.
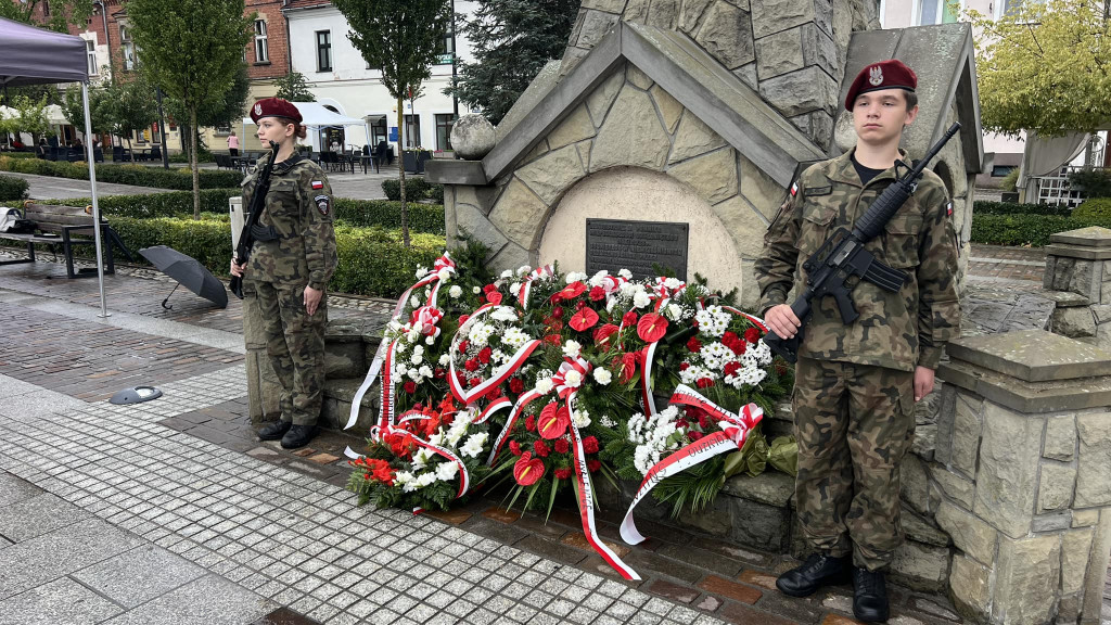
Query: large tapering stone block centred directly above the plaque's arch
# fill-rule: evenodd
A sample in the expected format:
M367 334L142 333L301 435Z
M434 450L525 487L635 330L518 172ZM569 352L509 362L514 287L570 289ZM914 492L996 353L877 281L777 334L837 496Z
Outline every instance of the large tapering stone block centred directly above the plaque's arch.
M621 89L590 151L590 171L628 165L663 169L670 141L651 97L631 87ZM526 246L528 247L528 246Z

